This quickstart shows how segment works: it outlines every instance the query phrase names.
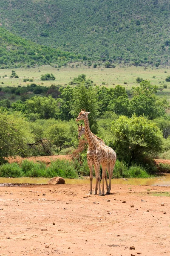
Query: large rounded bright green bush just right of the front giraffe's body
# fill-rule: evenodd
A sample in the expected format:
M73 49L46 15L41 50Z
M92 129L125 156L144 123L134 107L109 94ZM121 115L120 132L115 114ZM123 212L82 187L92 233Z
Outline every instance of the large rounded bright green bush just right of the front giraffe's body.
M162 150L161 131L143 116L120 116L113 122L111 131L116 154L127 163L140 163L146 154L157 154Z

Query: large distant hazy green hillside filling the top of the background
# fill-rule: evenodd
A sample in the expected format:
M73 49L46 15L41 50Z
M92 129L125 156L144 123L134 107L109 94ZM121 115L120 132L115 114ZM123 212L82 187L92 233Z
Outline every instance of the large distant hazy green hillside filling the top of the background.
M1 0L0 13L11 32L84 59L170 64L169 0Z

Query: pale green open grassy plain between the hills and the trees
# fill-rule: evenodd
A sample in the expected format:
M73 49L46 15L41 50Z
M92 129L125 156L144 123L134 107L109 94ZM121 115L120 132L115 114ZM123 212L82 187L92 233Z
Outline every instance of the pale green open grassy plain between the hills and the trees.
M152 84L155 84L161 87L163 84L167 84L167 89L163 91L158 91L158 96L167 96L168 101L170 102L170 82L166 82L165 78L170 75L170 69L166 68L156 68L156 67L116 67L116 68L105 68L98 67L93 68L85 66L84 64L79 64L76 67L74 64L74 68L71 68L73 64L70 64L68 67L57 68L51 66L42 66L35 68L19 68L13 69L16 71L19 76L18 79L10 78L12 69L1 69L0 70L0 86L26 86L30 84L30 81L23 82L24 78L32 79L34 78L34 83L40 84L44 86L50 86L51 84L62 84L66 85L71 81L74 77L77 77L80 74L85 74L86 78L94 81L96 85L105 84L107 87L115 87L117 84L125 86L127 90L130 90L133 86L139 85L136 82L136 78L140 77L144 80L150 80ZM165 71L167 73L165 73ZM56 77L55 81L41 81L41 75L45 73L53 73ZM6 75L6 76L5 76ZM3 76L5 76L3 78ZM2 84L3 82L3 84ZM124 83L127 84L124 84Z

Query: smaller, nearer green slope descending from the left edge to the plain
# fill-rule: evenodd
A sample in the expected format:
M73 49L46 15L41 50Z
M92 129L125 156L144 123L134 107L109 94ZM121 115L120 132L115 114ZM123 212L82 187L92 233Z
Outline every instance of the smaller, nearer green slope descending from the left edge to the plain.
M78 56L20 38L0 28L0 68L54 65L60 67Z

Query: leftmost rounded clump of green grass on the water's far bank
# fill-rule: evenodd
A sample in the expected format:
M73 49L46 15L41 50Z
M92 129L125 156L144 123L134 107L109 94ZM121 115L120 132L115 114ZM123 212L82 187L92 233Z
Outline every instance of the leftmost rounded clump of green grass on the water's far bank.
M21 177L22 170L17 163L6 163L0 166L0 177Z

